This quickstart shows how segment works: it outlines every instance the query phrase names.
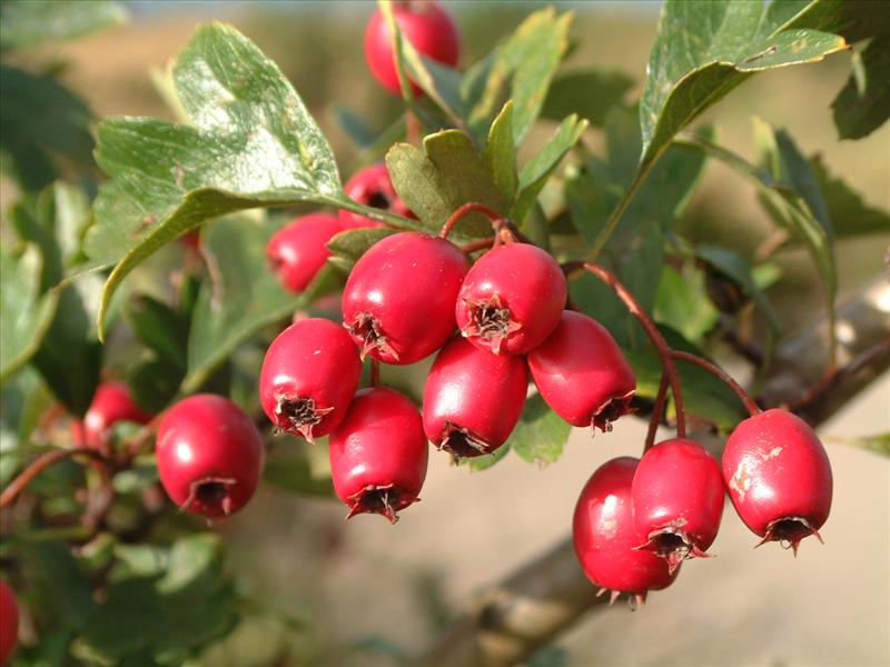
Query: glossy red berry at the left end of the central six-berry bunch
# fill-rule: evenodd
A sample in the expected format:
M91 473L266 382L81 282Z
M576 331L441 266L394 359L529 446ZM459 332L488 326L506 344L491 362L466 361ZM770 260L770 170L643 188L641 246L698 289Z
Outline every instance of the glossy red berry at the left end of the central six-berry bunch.
M269 346L259 400L277 428L312 442L343 421L360 377L358 350L343 327L303 319Z

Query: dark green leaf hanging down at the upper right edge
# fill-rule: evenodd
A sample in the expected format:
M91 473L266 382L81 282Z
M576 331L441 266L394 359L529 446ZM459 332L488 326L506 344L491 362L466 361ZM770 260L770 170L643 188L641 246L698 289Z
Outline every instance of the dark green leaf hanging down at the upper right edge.
M856 51L852 72L834 98L834 125L841 139L861 139L890 117L890 33Z

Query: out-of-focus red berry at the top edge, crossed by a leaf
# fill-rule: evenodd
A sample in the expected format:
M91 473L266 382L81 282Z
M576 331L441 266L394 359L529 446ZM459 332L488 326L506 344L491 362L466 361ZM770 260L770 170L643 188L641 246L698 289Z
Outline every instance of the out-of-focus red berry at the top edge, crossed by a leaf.
M435 2L394 2L398 29L422 56L455 67L461 54L461 36L454 20ZM365 29L365 60L374 78L387 90L399 94L398 74L393 56L393 38L386 19L374 12ZM421 89L412 82L415 94Z

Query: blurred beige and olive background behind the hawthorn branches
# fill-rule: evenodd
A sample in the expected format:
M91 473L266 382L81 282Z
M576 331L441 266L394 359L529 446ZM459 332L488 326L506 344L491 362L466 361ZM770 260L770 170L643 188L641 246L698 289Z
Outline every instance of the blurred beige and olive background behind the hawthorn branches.
M538 2L449 2L464 40L464 62L487 52ZM566 67L596 66L645 76L659 2L555 2L576 12L575 49ZM225 20L254 40L293 81L330 138L347 177L360 158L336 122L339 108L375 130L400 110L368 76L362 34L373 2L129 2L128 24L17 54L63 62L61 80L99 118L172 119L149 76L186 44L197 23ZM890 208L890 127L867 139L839 141L830 103L849 76L849 53L818 66L758 77L716 104L701 122L753 159L752 115L789 126L807 155L820 152L834 173L868 202ZM546 125L546 123L542 123ZM543 128L546 136L548 128ZM601 137L585 138L596 148ZM534 139L527 142L534 150ZM0 190L6 200L9 185ZM751 256L771 228L748 183L709 165L680 229ZM876 242L876 238L880 242ZM890 236L839 245L840 297L882 279ZM803 250L782 253L783 280L770 291L785 332L811 326L823 311L818 278ZM822 430L832 438L890 430L890 376L876 382ZM337 502L294 498L268 486L243 514L219 527L233 546L228 564L239 586L299 620L294 631L256 621L240 626L207 657L208 665L268 665L281 643L306 664L388 665L398 650L423 647L476 591L562 538L576 495L606 459L636 454L640 420L620 422L609 438L574 432L558 462L538 469L508 456L471 474L433 456L423 502L396 527L375 516L348 525ZM670 589L630 614L623 605L583 619L538 665L889 665L890 462L830 445L835 505L822 535L797 560L774 545L751 552L754 537L731 507L713 547L718 558L684 566ZM355 653L354 647L363 650ZM555 660L555 661L554 661Z

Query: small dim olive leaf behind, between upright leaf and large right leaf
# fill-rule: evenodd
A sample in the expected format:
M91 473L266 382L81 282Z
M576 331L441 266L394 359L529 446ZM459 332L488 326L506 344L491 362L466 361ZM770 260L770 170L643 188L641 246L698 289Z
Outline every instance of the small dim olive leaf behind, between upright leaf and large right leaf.
M576 113L599 128L605 122L606 113L622 103L632 86L633 79L617 70L584 69L557 74L541 116L562 120Z

